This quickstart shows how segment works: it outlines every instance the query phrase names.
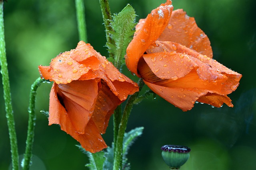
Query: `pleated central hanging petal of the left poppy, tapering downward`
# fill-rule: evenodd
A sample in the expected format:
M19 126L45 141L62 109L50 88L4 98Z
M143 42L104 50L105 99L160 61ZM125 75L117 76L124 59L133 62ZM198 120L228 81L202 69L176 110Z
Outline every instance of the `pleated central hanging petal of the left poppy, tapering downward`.
M72 121L74 131L83 134L94 111L98 82L75 80L68 84L58 84L57 95Z

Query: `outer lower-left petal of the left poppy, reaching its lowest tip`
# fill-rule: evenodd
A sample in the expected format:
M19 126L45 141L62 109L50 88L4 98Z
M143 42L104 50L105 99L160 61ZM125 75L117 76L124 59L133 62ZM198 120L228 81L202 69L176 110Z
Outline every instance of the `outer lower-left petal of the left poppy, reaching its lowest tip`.
M49 125L59 124L63 131L76 139L89 152L99 152L106 148L107 145L93 121L87 123L84 134L75 132L72 120L58 100L55 88L56 84L54 83L50 92Z

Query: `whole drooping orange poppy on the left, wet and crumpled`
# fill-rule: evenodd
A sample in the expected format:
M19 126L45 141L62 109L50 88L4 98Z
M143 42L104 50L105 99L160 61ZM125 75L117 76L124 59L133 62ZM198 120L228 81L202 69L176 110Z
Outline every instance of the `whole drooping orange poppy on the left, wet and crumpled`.
M106 148L101 134L110 116L128 95L138 91L138 85L83 41L52 59L50 66L39 66L39 71L54 81L49 125L59 124L87 151Z

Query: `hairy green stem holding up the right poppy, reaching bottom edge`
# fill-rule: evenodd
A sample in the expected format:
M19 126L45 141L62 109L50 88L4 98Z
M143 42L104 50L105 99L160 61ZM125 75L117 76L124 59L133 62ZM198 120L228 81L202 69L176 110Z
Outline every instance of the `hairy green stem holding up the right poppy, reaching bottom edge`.
M123 153L123 141L124 141L124 132L126 130L128 118L132 111L132 106L134 104L134 100L138 97L138 94L142 87L144 86L144 82L142 78L140 78L139 82L139 91L129 96L126 106L124 107L124 113L122 115L122 119L119 125L118 136L116 138L116 148L115 148L115 157L114 157L114 167L113 170L122 169L122 153Z

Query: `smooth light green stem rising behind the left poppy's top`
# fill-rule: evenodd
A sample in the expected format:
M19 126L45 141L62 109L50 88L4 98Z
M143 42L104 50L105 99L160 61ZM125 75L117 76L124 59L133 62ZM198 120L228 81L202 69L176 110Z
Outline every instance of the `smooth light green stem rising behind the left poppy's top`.
M86 34L84 0L76 0L76 19L78 25L79 40L88 43Z

